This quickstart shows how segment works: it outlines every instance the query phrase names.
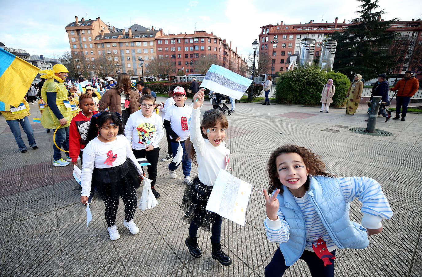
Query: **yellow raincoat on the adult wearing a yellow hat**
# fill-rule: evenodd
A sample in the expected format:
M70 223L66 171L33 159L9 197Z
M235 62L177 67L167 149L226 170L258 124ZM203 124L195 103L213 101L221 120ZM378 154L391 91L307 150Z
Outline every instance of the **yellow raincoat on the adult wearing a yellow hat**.
M63 83L57 83L54 82L54 78L46 80L46 82L43 85L43 88L41 89L41 98L47 99L47 91L56 91L56 104L57 107L60 110L60 113L63 115L63 117L68 121L66 125L60 126L60 122L57 119L57 117L54 115L54 113L51 111L50 107L46 105L46 109L43 112L43 115L41 115L41 124L44 128L51 128L55 129L57 126L60 126L60 128L69 127L70 121L72 120L72 113L70 109L65 107L65 104L63 101L68 101L68 90L66 89L65 85Z

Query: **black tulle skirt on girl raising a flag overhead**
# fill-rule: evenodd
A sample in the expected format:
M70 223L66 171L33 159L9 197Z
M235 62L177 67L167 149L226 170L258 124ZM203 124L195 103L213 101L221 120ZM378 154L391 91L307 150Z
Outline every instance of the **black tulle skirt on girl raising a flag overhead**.
M210 224L214 223L217 214L206 210L212 186L206 186L199 181L198 176L193 178L183 194L181 209L184 211L182 220L189 223L195 221L202 229L209 231Z

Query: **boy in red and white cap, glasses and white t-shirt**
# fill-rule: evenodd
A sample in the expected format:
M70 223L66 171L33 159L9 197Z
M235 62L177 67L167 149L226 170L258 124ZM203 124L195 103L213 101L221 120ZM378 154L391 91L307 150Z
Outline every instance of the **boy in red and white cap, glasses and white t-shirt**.
M186 153L185 149L185 141L190 136L189 131L189 122L190 118L192 117L192 107L187 106L184 104L186 101L186 92L184 88L177 86L173 90L173 99L176 102L165 112L164 116L164 128L165 131L170 134L170 143L171 143L171 150L173 152L173 157L177 154L177 149L179 147L179 141L181 146L183 147L183 157L182 157L182 168L184 174L184 181L185 183L189 184L192 179L190 176L190 169L191 169L191 160L189 159L189 155ZM176 178L176 166L174 162L171 162L168 165L168 169L170 171L170 176L172 178Z

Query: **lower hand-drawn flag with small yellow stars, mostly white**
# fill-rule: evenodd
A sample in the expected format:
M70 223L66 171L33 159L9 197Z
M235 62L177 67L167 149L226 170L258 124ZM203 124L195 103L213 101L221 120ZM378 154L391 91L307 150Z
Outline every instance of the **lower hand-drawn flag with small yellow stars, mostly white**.
M206 209L245 226L252 185L220 169Z

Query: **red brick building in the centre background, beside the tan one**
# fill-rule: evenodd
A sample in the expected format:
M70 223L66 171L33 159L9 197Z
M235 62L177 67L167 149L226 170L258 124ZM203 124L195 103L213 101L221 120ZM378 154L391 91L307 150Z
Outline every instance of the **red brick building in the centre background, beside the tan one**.
M206 31L195 31L194 34L169 34L155 38L157 47L157 59L171 58L174 59L176 72L182 70L185 75L200 74L198 72L197 61L201 57L214 57L222 67L230 69L240 75L245 76L246 61L232 48L232 42L226 43L225 39L221 39L214 35L213 32L208 34ZM192 63L191 63L192 62ZM176 72L171 75L176 75Z

